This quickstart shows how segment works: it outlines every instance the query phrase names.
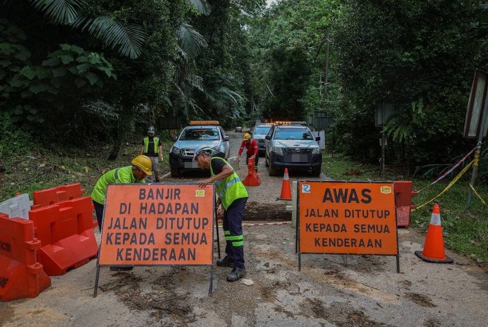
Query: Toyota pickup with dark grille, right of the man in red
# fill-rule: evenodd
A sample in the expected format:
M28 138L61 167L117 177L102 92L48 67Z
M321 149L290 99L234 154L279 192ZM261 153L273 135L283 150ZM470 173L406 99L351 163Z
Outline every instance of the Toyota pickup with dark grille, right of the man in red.
M275 122L265 136L265 165L269 176L277 175L286 168L303 169L319 176L322 166L322 150L305 122Z

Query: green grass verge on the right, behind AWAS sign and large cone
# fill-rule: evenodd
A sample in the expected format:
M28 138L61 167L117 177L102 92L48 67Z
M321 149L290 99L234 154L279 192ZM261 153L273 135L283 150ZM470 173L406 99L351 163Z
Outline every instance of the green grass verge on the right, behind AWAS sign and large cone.
M413 181L413 189L421 190L412 198L414 204L424 204L438 195L449 184L451 178L456 176L460 169L455 170L450 178L427 187L432 180L406 178L402 169L387 166L387 181ZM361 163L351 157L343 155L324 154L322 170L330 178L338 181L381 181L381 168L379 164ZM360 175L347 175L346 172L358 170ZM432 203L411 213L410 225L422 233L427 232L430 222L432 206L438 203L441 208L442 228L446 246L458 253L476 260L480 266L488 266L488 206L473 194L469 209L465 209L468 199L468 176L466 173L456 184L452 185L446 193ZM427 187L427 188L426 188ZM476 184L476 191L488 201L488 185ZM420 249L419 249L420 250Z

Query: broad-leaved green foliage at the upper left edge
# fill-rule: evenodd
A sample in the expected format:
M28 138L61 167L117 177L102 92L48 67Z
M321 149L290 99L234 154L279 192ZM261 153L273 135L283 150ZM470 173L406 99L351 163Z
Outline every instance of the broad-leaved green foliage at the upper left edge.
M102 75L115 79L113 67L103 54L60 44L41 64L33 64L31 52L22 44L25 33L7 20L0 20L0 110L4 118L24 127L46 120L46 109L63 108L68 93L85 85L102 87ZM74 83L74 85L73 85ZM73 86L76 85L76 88ZM62 92L62 97L60 93Z

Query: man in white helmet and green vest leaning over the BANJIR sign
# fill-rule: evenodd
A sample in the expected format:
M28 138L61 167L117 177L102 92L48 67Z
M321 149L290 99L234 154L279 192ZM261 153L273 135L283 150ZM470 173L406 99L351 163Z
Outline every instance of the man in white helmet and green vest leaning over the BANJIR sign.
M206 145L195 149L193 161L200 168L210 169L211 177L199 183L200 187L215 183L219 196L217 207L224 207L225 258L217 260L217 266L232 267L227 275L228 282L235 282L245 276L243 218L247 202L247 190L234 169L223 158L212 157L213 150Z

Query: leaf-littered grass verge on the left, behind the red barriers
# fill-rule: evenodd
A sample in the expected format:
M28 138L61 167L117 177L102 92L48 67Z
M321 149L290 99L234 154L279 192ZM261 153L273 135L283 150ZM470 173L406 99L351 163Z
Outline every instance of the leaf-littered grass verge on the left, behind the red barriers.
M163 142L163 162L159 164L161 174L169 171L169 149L173 143ZM84 150L31 149L28 155L5 160L6 171L0 172L0 202L15 196L16 192L29 193L65 184L81 183L90 195L102 174L128 166L140 154L139 143L128 143L121 147L115 161L106 159L110 146L94 146Z

